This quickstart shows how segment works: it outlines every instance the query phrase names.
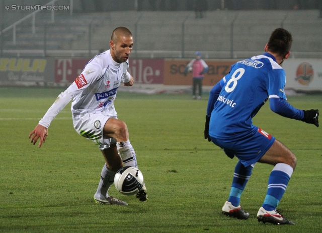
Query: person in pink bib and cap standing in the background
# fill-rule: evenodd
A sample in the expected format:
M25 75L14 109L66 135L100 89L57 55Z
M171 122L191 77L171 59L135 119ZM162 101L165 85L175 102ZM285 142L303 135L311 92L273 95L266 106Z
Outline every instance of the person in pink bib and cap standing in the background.
M204 74L208 71L208 65L201 59L201 53L196 52L196 58L191 60L185 68L185 75L188 72L192 72L193 90L192 98L201 99L202 96L202 80L205 77ZM197 86L199 87L199 95L196 95Z

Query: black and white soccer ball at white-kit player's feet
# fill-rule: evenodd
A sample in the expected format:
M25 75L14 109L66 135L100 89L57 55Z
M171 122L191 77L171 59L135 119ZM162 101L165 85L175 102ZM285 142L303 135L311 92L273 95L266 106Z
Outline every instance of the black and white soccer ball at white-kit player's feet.
M114 177L115 188L123 195L137 194L143 186L142 172L134 166L124 166L119 169Z

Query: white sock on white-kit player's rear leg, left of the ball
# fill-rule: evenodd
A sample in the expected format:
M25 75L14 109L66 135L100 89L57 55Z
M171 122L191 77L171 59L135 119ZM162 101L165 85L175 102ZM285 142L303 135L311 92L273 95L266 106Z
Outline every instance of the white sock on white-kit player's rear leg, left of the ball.
M106 164L104 164L101 172L101 180L99 183L99 187L97 188L97 191L95 193L95 196L97 198L106 199L107 197L109 197L107 191L114 183L115 174L116 171L111 171L109 168L107 168Z

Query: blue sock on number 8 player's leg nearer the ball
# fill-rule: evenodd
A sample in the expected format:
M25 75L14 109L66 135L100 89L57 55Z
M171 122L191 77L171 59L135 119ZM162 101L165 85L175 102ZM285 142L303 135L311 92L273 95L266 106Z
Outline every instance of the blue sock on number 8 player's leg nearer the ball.
M241 163L240 161L237 162L228 198L228 201L233 206L239 205L240 196L243 193L245 186L251 177L254 165L255 164L245 167L243 163Z

